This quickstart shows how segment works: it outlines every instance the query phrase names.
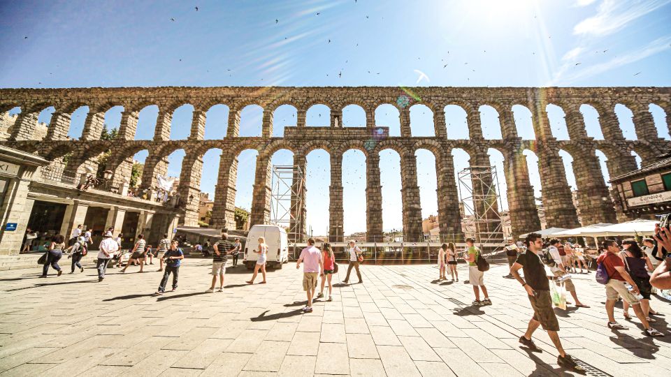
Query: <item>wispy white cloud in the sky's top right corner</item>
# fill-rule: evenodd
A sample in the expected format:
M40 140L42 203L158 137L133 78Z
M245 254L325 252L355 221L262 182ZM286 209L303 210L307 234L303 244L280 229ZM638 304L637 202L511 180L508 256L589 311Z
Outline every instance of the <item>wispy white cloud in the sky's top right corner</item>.
M587 0L579 0L586 2ZM604 0L598 7L596 15L586 18L575 25L573 34L592 34L605 36L623 28L629 22L647 15L665 6L671 0Z

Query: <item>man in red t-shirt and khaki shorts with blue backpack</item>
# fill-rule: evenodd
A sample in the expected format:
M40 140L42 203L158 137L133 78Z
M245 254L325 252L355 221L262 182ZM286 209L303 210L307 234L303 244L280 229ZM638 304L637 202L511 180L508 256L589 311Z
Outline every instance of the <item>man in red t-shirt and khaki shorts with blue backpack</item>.
M631 279L624 268L622 259L618 256L620 252L619 246L612 239L605 239L601 242L601 249L603 253L596 259L597 263L603 264L607 274L608 282L606 283L606 313L608 314L608 328L612 330L626 330L627 327L620 325L615 321L615 302L618 297L622 297L632 306L634 313L643 324L645 334L649 337L663 337L664 334L650 327L648 320L645 318L643 310L641 309L640 291L636 286L635 281ZM630 284L631 291L625 286L625 281Z

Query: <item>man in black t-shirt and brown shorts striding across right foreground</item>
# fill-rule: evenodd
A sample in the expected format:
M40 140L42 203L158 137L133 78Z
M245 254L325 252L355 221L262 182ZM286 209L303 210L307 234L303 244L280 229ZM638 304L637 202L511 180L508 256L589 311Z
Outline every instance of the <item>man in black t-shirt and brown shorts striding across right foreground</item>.
M545 273L545 266L540 260L539 255L542 253L543 247L541 235L530 233L526 236L524 242L526 244L526 251L520 253L515 263L510 267L510 274L526 290L529 302L531 302L531 308L533 309L533 317L529 320L526 333L519 337L519 342L533 352L542 352L531 340L533 332L540 325L543 327L543 330L547 331L548 337L554 343L555 348L557 348L559 353L557 364L578 372L584 372L584 369L576 364L575 360L570 355L567 355L561 346L559 334L557 333L559 331L559 322L554 309L552 309L550 285ZM519 269L524 271L524 279L519 276Z

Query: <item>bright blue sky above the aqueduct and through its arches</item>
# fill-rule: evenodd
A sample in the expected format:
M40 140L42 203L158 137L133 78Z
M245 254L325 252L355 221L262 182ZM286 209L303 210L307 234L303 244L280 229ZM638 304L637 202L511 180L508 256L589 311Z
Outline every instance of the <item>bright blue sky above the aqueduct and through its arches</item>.
M671 84L671 0L2 1L0 33L0 87ZM428 80L417 82L415 70ZM191 110L187 105L175 112L173 138L186 137ZM357 110L346 109L346 126L362 124ZM596 113L583 110L589 135L602 138ZM87 111L73 114L74 137ZM111 109L106 123L117 127L120 111ZM651 111L659 135L669 138L663 112ZM227 112L224 106L208 112L207 138L223 137ZM533 138L530 113L514 112L520 135ZM568 138L561 110L548 112L554 135ZM616 113L626 138L635 138L628 110L619 107ZM156 114L155 107L141 112L138 139L152 137ZM295 124L292 114L291 108L275 112L277 135ZM40 118L49 117L46 110ZM463 111L448 108L446 117L449 137L464 138ZM323 106L308 114L312 126L326 119ZM378 109L375 119L398 134L394 110ZM260 121L258 108L245 109L241 134L260 135ZM433 132L431 114L421 106L412 108L411 122L413 135ZM485 137L500 132L493 110L482 109L482 123ZM214 191L218 153L204 157L203 191ZM171 156L171 174L178 175L183 155ZM428 152L417 156L422 212L428 216L437 208L435 165ZM463 151L454 156L457 171L468 165ZM575 186L570 156L563 156ZM492 154L492 163L500 167L500 160ZM528 160L538 191L535 156ZM241 207L250 207L254 162L254 152L240 155ZM286 151L273 158L290 162ZM324 151L308 156L308 222L315 234L324 234L328 224L328 162ZM365 159L350 151L343 163L345 232L365 230ZM398 164L396 154L382 154L385 230L401 228ZM498 171L505 193L503 168Z

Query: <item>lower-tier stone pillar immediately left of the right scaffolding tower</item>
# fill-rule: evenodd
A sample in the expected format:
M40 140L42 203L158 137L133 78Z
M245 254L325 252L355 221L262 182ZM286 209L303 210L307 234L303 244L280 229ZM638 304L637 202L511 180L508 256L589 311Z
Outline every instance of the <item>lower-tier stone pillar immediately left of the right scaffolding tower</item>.
M438 186L438 226L442 242L463 242L459 194L454 179L454 159L449 151L435 156L435 175Z

